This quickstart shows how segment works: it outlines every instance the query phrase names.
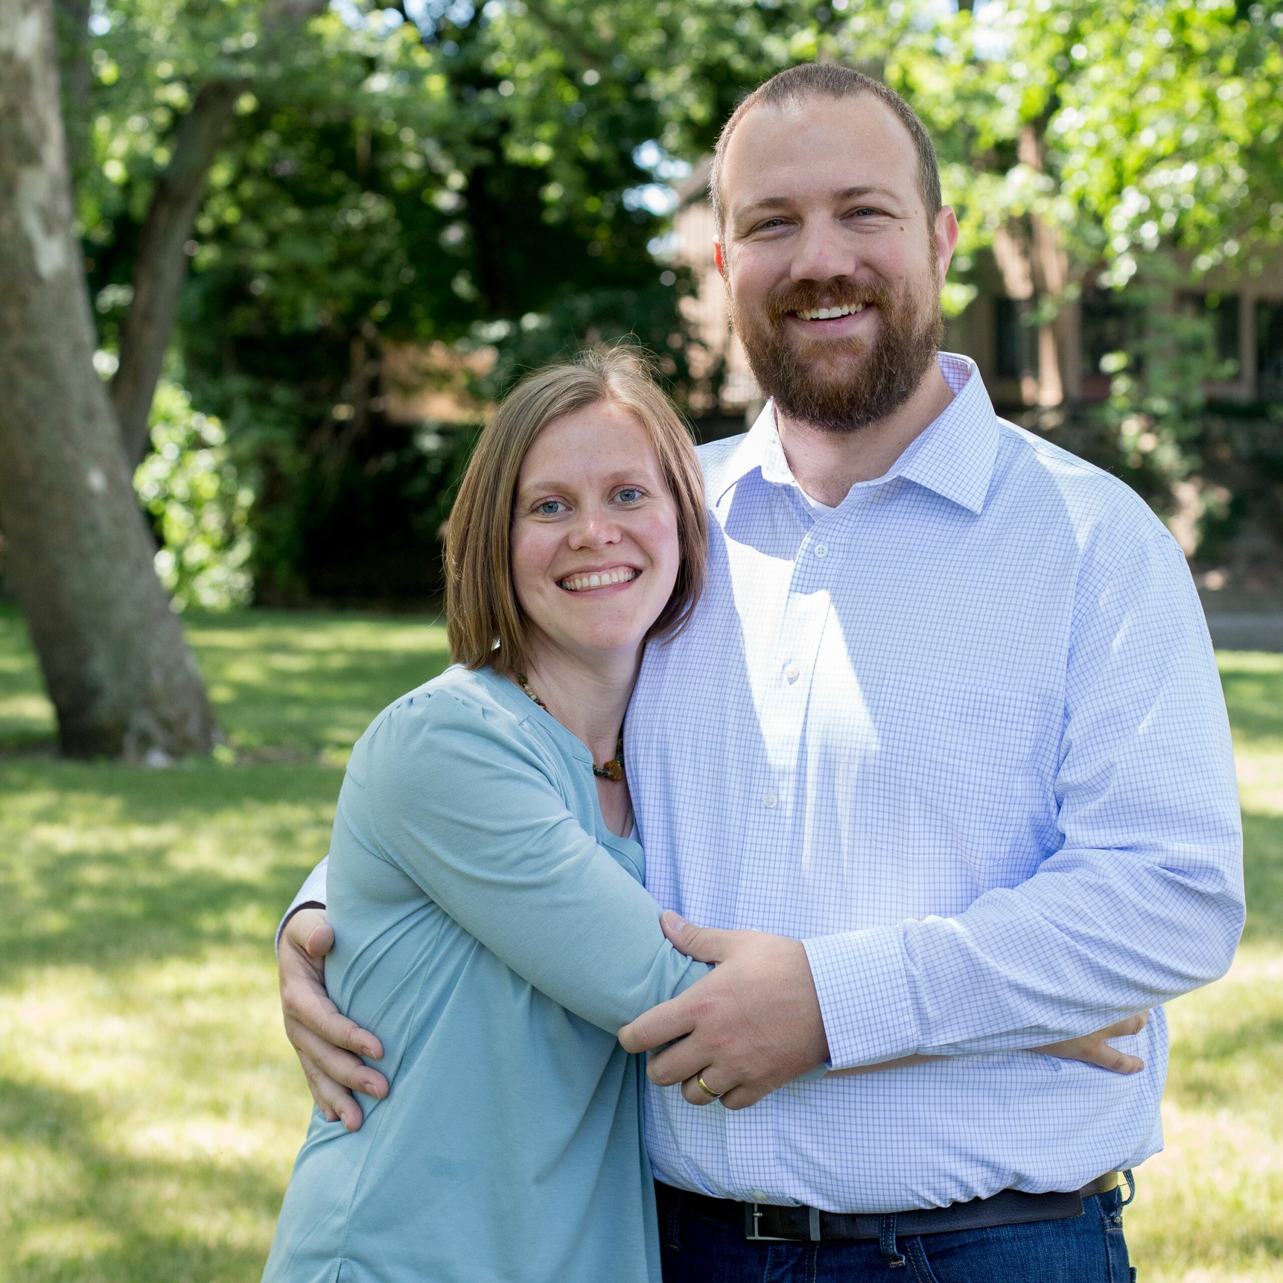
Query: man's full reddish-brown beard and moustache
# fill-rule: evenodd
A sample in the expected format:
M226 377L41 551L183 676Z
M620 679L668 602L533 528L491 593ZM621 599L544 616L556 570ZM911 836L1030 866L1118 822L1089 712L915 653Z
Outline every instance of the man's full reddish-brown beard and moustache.
M878 308L872 346L856 336L793 339L785 331L792 312L861 303ZM899 409L944 341L939 300L931 295L922 303L911 290L897 295L881 278L790 284L769 295L752 317L733 295L731 322L762 391L789 418L837 434L856 432Z

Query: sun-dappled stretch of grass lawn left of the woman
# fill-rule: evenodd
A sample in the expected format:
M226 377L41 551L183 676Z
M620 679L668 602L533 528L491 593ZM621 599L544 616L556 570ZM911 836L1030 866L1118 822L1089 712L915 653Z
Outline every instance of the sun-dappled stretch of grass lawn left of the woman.
M258 1279L309 1109L272 931L352 742L446 658L422 620L186 625L236 757L148 771L51 756L0 607L0 1283Z

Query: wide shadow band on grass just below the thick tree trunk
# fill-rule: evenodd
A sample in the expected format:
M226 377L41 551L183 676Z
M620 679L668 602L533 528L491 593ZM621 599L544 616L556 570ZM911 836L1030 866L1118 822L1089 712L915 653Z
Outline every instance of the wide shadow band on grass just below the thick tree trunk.
M28 967L272 947L325 853L341 772L10 760L0 771L0 984Z

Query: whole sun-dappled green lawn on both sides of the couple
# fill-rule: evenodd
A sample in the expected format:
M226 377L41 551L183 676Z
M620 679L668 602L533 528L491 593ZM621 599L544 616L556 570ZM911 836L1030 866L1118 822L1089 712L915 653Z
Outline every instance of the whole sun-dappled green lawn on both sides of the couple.
M164 771L60 762L0 606L0 1283L250 1283L308 1097L271 934L323 854L348 747L445 663L422 620L192 616L230 739ZM1283 656L1221 654L1250 916L1174 1003L1141 1279L1283 1283Z

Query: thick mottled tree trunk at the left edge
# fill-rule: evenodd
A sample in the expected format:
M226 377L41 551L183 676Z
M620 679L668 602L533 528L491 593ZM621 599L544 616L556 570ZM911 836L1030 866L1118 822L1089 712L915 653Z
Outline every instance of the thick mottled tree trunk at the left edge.
M0 0L0 513L6 575L74 757L207 752L200 674L153 568L94 327L50 0Z

